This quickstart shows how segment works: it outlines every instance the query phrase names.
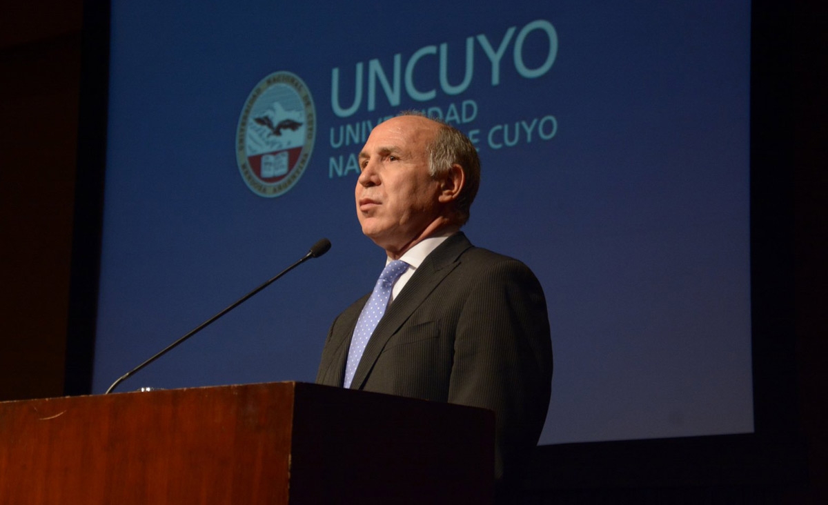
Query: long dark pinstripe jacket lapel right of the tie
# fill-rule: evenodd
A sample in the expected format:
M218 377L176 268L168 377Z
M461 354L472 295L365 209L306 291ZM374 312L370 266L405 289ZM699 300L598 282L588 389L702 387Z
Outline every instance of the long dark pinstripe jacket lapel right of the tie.
M379 321L377 328L373 330L373 335L368 340L368 345L365 347L365 352L359 361L357 371L354 373L351 388L361 389L363 387L371 368L373 368L373 363L383 352L388 340L405 324L414 310L426 301L426 298L440 285L440 282L460 264L460 254L471 247L469 239L463 233L457 233L446 239L444 243L440 244L440 247L426 257L426 260L417 268L406 286L402 288L397 299L388 306L388 310L383 315L383 319ZM354 325L356 325L356 321L354 321ZM353 327L351 333L353 334ZM348 353L347 349L345 353Z

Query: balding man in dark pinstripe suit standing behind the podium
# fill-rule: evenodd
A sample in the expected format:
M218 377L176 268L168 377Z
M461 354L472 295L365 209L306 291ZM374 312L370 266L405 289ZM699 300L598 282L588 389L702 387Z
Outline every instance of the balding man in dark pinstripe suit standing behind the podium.
M375 291L334 321L316 382L493 410L495 478L511 483L549 406L540 283L522 262L475 248L460 233L480 165L454 127L417 114L392 118L373 129L359 163L363 233L388 262L406 264L388 281L390 300ZM378 324L360 337L372 311Z

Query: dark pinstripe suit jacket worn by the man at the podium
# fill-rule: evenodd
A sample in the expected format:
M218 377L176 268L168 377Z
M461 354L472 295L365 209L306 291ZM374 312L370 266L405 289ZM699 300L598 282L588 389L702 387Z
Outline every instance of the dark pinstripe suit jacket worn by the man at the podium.
M334 321L316 382L342 386L368 296ZM522 262L475 248L457 233L426 257L388 307L351 387L493 410L495 476L502 479L537 444L551 376L549 320L537 278Z

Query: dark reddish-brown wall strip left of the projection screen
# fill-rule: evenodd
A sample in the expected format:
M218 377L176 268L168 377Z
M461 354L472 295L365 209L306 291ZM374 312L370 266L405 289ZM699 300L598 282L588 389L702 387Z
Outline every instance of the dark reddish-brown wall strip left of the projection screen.
M0 7L0 400L63 392L79 0Z

